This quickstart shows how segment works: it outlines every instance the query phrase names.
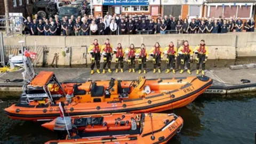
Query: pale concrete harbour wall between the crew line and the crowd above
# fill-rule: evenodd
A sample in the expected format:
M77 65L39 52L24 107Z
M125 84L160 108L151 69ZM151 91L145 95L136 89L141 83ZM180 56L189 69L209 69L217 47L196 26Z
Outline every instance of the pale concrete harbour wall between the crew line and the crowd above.
M149 51L155 42L165 47L170 42L180 45L187 40L193 49L201 39L209 47L209 59L235 59L236 57L256 56L255 33L228 33L228 34L170 34L170 35L111 35L111 36L23 36L4 37L6 57L12 54L13 49L19 49L19 41L25 41L24 46L30 51L36 51L38 66L51 65L57 60L58 65L79 65L91 63L87 55L87 47L97 38L103 44L106 38L116 47L121 43L123 47L134 44L140 47L145 44ZM35 50L36 47L36 50ZM113 57L113 61L115 55ZM150 59L149 59L150 60Z

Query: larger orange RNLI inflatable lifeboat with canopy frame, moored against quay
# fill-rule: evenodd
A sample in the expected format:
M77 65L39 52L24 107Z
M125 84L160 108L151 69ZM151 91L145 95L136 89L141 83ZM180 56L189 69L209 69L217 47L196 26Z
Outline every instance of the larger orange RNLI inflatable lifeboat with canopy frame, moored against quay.
M59 116L59 102L70 116L158 112L188 105L211 84L206 76L60 84L53 72L41 71L4 112L13 119L53 119Z

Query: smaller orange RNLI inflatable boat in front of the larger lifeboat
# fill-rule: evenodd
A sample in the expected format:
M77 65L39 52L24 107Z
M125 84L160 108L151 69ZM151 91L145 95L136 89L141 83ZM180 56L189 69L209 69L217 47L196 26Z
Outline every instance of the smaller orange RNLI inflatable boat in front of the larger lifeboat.
M166 143L181 130L183 119L175 114L103 114L58 117L42 126L60 139L46 144Z

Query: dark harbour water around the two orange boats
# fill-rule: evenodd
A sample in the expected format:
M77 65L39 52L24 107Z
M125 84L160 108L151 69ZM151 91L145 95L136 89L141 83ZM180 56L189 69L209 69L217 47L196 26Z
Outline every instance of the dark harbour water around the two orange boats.
M199 97L187 107L174 110L183 118L184 126L168 143L254 143L255 106L256 97ZM41 124L11 120L1 111L0 143L43 143L56 139Z

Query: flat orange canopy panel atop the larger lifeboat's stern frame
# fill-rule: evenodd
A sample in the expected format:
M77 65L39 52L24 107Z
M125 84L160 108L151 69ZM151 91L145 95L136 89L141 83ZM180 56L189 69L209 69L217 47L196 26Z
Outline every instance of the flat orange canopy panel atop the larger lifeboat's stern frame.
M33 86L44 86L49 82L49 79L53 76L52 71L41 71L30 83Z

